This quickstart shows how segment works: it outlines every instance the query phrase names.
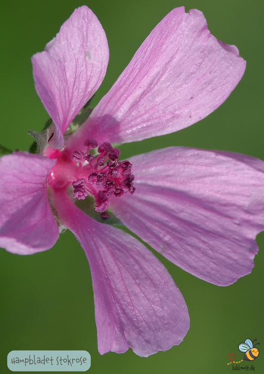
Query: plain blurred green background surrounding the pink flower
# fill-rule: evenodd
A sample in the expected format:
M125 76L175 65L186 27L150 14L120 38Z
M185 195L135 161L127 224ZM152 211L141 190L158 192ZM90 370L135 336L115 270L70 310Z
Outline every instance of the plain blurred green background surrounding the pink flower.
M87 4L107 35L110 60L95 103L109 90L136 49L174 7L204 12L211 33L236 45L247 60L241 82L228 99L201 122L172 135L121 146L122 158L171 145L241 152L264 160L263 16L259 0L45 0L1 2L0 143L27 150L28 130L40 131L48 119L37 96L30 57L44 49L74 8ZM49 251L18 256L0 249L0 372L10 373L11 350L87 350L88 373L230 373L227 355L243 358L238 344L261 342L255 371L264 369L264 233L252 274L218 287L162 262L189 308L191 327L184 341L149 358L97 350L89 265L67 231ZM158 258L161 256L158 255ZM234 264L235 265L235 264ZM245 361L242 362L245 366Z

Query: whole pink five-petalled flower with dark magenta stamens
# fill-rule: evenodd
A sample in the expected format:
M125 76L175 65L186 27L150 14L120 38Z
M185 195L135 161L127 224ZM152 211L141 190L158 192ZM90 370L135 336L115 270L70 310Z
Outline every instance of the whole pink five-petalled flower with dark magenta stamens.
M235 88L245 61L210 34L202 12L176 8L72 135L66 130L106 74L108 46L97 17L87 6L75 9L32 63L54 125L35 134L40 154L0 159L0 246L33 254L51 248L59 230L71 230L91 267L99 352L167 350L189 329L183 296L141 242L102 222L113 212L182 269L231 284L251 272L255 237L264 230L264 163L184 147L121 162L111 143L168 134L206 117ZM91 207L95 219L84 212Z

